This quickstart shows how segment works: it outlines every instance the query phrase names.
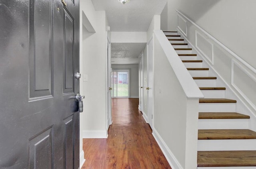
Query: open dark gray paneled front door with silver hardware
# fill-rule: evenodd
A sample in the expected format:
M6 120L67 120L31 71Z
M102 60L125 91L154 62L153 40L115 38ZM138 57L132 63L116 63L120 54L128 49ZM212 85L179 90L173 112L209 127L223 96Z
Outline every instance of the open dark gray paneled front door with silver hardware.
M0 0L0 169L78 169L78 71L79 0Z

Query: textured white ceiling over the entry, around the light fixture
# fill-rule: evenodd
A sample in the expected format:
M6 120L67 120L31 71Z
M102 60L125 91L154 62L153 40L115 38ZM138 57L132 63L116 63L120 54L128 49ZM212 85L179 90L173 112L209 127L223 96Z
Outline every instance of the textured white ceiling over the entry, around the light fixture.
M154 15L160 15L167 0L92 0L96 10L105 10L111 31L147 31Z

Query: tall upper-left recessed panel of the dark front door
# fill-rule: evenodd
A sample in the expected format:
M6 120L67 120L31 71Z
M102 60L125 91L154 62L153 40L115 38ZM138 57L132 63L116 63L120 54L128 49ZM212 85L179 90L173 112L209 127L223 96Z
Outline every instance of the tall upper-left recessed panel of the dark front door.
M30 0L29 98L52 96L52 1ZM42 40L44 37L45 40Z

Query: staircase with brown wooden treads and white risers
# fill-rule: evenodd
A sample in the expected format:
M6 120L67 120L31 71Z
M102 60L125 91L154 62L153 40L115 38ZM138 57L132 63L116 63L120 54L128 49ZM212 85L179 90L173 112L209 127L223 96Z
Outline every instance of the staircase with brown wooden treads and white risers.
M248 130L250 116L236 112L236 100L225 98L226 88L198 60L178 35L164 32L204 94L199 99L198 169L256 169L256 132Z

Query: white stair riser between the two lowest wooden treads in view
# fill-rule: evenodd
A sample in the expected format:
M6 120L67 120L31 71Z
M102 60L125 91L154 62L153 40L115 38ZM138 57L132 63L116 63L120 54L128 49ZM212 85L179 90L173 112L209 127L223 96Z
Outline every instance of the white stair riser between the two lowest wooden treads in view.
M198 140L198 151L256 150L256 139Z

